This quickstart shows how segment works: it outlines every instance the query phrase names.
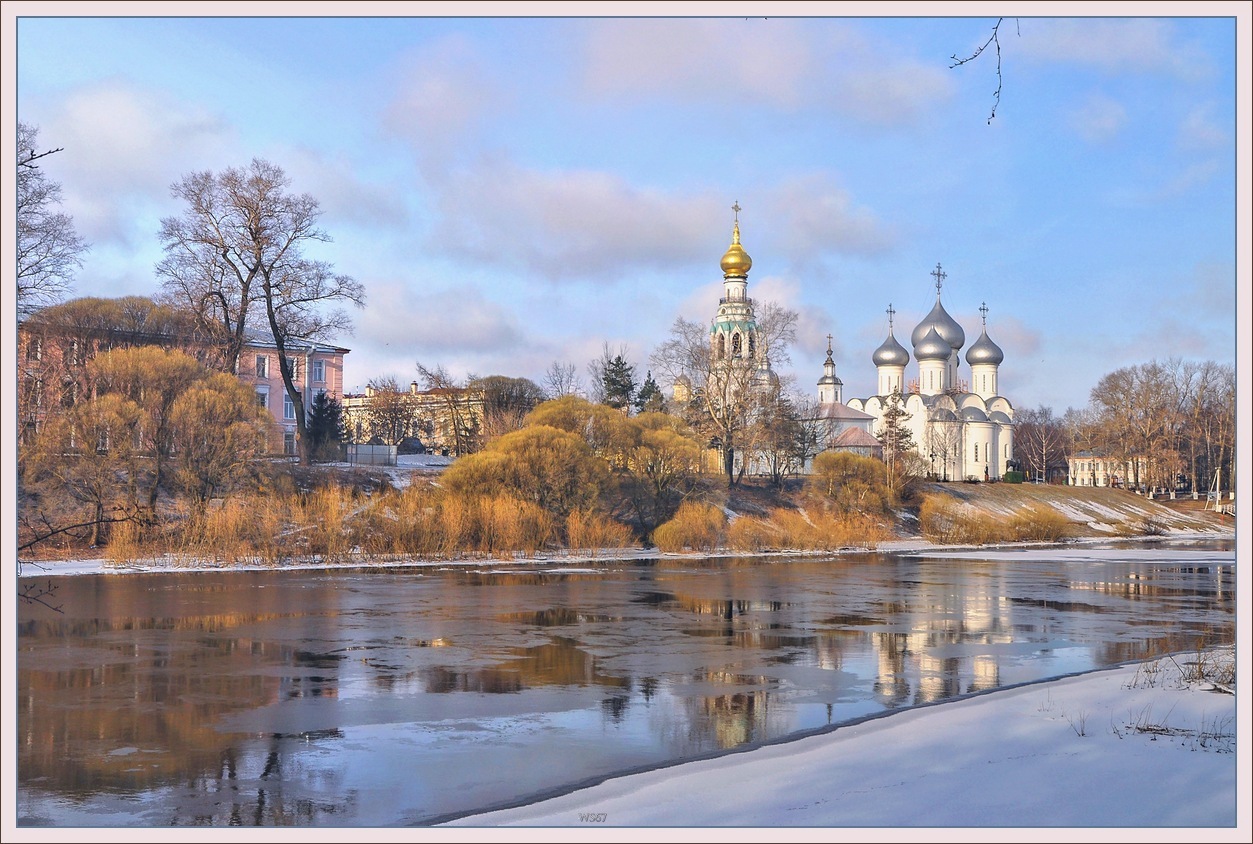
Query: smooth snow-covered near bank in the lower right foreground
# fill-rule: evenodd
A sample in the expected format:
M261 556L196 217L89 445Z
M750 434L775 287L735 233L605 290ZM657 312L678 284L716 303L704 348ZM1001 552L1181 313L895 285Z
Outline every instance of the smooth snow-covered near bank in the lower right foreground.
M1193 828L1203 830L1197 840L1248 841L1249 766L1237 765L1248 760L1247 730L1237 749L1248 708L1238 718L1235 696L1187 681L1192 660L910 709L450 825L573 826L581 840L608 826L876 828L876 840L918 840L923 828L1031 840L1012 833L1085 826L1098 829L1081 840L1136 841L1154 840L1144 828L1170 828L1170 840ZM804 840L818 839L833 840Z

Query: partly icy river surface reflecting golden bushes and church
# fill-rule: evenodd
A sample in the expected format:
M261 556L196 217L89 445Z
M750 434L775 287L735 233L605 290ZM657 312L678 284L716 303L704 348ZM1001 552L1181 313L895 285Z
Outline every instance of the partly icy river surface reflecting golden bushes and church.
M1234 577L1222 557L867 553L59 579L65 615L18 620L23 823L66 824L71 805L119 825L420 823L1229 642ZM363 773L392 756L386 781Z

